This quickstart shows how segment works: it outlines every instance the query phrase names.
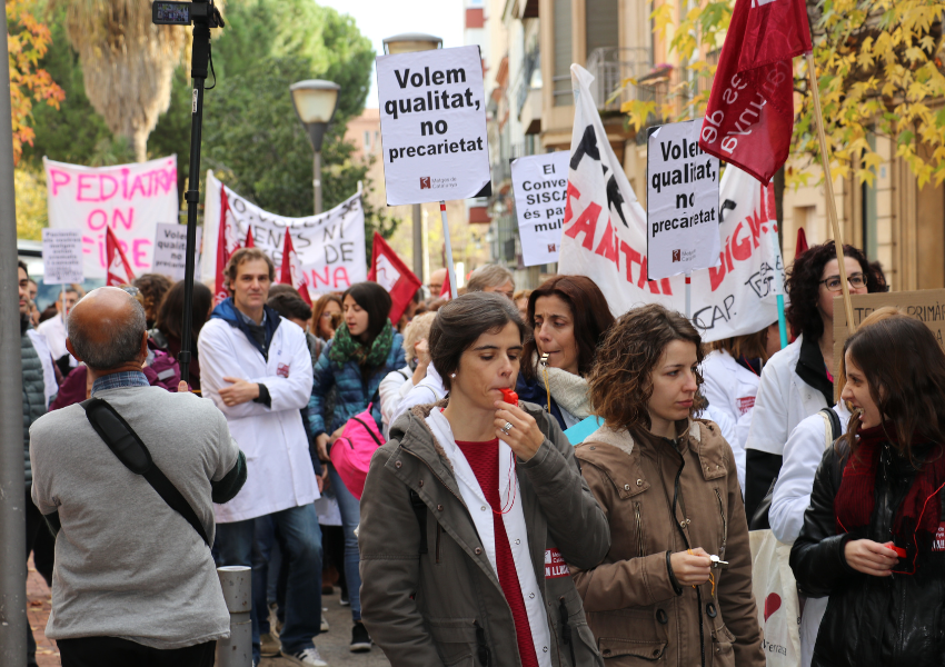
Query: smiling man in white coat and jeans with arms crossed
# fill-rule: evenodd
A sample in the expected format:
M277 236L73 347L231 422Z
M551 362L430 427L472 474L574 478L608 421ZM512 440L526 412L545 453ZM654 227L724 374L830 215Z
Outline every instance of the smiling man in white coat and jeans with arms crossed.
M311 395L311 356L302 329L266 305L275 272L258 248L237 250L227 265L232 296L213 309L197 341L203 396L226 415L248 468L236 498L215 506L217 546L220 565L252 566L253 519L271 518L289 567L284 657L321 667L312 641L321 628L321 531L312 505L319 492L299 412ZM252 597L258 664L262 577L253 577Z

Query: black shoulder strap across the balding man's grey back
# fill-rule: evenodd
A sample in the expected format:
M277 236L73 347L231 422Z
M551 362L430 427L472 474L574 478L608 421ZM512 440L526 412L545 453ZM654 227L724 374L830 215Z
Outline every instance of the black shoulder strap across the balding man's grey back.
M193 511L187 498L177 490L171 480L155 465L151 452L148 451L135 429L122 419L115 408L100 398L90 398L79 405L86 410L89 424L105 440L111 452L118 457L118 460L125 464L125 467L135 475L142 476L171 509L193 526L193 529L203 539L203 544L210 547L210 539L207 537L207 531L197 517L197 512Z

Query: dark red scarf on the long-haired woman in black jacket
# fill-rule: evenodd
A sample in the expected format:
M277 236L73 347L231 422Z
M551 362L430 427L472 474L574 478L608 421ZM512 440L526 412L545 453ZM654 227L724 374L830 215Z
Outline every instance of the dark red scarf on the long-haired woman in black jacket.
M895 446L895 427L889 422L885 424L885 428L876 426L857 432L859 446L844 466L843 481L834 499L838 535L869 526L876 506L876 475L883 446L889 442L893 456L899 456ZM928 440L916 436L913 444L928 444ZM938 531L943 519L938 494L943 486L945 452L942 446L935 446L931 448L926 462L916 472L893 518L894 541L896 546L906 548L909 560L914 558L919 545L931 546Z

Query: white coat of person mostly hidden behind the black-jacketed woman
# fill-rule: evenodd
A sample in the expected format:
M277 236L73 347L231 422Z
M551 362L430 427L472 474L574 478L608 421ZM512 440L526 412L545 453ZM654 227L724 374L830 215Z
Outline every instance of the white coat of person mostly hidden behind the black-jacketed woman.
M843 401L833 407L840 418L840 432L846 432L849 410ZM804 512L810 505L814 476L824 458L828 438L827 424L818 412L803 419L790 431L784 446L784 462L775 484L768 520L772 532L780 541L793 545L804 527ZM830 434L832 435L832 434ZM800 617L800 667L809 667L814 657L814 644L829 598L807 598Z

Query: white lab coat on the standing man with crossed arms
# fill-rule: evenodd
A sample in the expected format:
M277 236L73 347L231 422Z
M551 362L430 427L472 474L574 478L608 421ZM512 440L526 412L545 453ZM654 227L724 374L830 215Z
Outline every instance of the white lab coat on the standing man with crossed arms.
M246 454L247 479L236 498L215 505L217 522L261 517L319 498L308 439L299 410L311 396L311 355L300 327L282 318L269 345L269 359L246 335L212 318L200 330L200 387L227 417L230 434ZM227 406L223 377L266 385L271 408L253 401Z

